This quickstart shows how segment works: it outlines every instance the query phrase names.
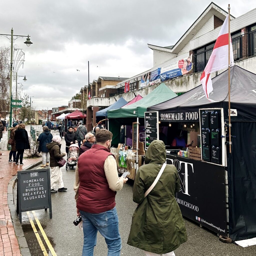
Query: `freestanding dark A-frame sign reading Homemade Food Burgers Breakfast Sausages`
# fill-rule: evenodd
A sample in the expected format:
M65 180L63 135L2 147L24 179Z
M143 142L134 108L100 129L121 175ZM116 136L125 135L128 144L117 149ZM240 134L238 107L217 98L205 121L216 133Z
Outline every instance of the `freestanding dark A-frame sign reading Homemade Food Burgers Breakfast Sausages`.
M51 211L50 169L34 169L18 172L17 213L21 223L21 213L49 208Z

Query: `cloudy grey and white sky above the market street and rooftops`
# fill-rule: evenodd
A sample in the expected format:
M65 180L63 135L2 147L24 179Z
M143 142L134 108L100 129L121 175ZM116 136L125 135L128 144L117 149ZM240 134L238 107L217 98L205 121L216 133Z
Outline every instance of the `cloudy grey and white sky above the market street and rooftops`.
M238 17L255 1L216 0ZM67 105L72 95L99 76L131 77L153 66L147 44L169 46L185 33L210 1L172 0L13 0L2 1L0 34L31 36L15 40L24 48L23 92L38 109ZM0 46L9 46L0 37ZM98 66L98 67L97 67ZM80 71L76 71L79 69ZM55 73L54 73L55 72Z

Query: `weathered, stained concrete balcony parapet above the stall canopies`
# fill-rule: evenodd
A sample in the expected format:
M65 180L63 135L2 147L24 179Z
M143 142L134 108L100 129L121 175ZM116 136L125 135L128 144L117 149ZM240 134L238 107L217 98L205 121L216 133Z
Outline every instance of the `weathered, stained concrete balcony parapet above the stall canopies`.
M235 65L244 68L250 72L256 73L256 56L239 60L235 62ZM220 70L218 72L214 72L211 74L211 78L217 76L218 74L222 73L226 69ZM177 92L186 92L189 91L198 85L201 84L200 77L201 77L202 71L193 73L191 75L183 76L180 78L172 79L169 81L166 81L165 84L168 88L170 88L175 93ZM141 88L139 90L133 91L133 92L127 92L120 95L116 95L114 97L110 98L91 98L90 100L87 100L87 106L110 106L113 103L115 103L116 100L119 100L121 97L123 97L126 101L131 101L135 95L134 93L140 94L142 97L145 97L148 93L152 92L157 85L148 86Z

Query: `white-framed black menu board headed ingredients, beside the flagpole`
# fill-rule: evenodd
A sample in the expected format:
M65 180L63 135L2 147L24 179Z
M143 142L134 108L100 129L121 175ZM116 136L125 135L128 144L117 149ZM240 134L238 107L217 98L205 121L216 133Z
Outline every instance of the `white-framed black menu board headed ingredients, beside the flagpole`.
M223 165L225 158L222 152L222 148L224 149L222 131L225 133L223 109L199 109L199 114L202 160Z

